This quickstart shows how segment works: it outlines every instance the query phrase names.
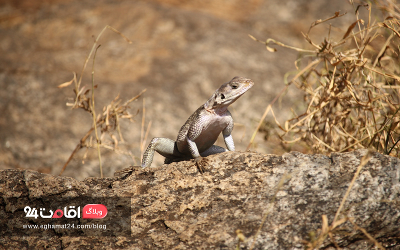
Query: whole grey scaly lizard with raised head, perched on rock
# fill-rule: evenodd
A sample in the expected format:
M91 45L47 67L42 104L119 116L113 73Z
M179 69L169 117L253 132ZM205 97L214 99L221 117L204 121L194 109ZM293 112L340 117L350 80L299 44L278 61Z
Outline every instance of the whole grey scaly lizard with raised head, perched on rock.
M164 163L194 159L194 164L202 174L208 165L204 157L224 151L234 151L231 135L233 118L227 107L254 85L254 82L242 76L235 76L223 83L202 104L179 129L176 141L154 137L143 153L141 167L150 167L154 151L165 157ZM222 132L227 149L214 145ZM131 172L134 166L116 171L115 174Z

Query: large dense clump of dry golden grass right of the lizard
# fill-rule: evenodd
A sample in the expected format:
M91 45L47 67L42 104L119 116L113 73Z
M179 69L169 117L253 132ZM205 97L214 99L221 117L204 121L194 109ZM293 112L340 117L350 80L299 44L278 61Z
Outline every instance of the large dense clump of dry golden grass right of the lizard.
M284 124L275 118L282 131L279 138L283 143L305 142L313 152L375 148L398 157L400 9L390 1L353 7L354 22L348 24L339 39L331 37L330 24L323 41L315 42L309 36L315 25L340 18L343 14L339 12L310 25L303 36L313 49L296 48L273 39L260 41L251 36L271 52L276 51L271 44L300 52L295 61L297 74L288 85L303 92L304 110L300 114L293 111L294 117ZM382 20L371 21L372 8L379 9ZM366 11L368 20L360 19L358 11ZM271 105L260 124L266 113L273 111Z

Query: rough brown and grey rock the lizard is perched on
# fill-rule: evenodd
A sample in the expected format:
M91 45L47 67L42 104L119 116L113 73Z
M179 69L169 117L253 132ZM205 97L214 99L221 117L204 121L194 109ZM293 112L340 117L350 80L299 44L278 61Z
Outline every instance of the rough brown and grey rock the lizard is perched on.
M203 175L183 161L135 170L122 178L86 178L1 170L1 210L13 212L3 196L131 196L130 237L0 237L6 249L235 249L240 229L249 249L304 249L335 212L367 150L347 153L209 156ZM282 185L279 185L281 180ZM376 249L363 229L386 249L400 249L400 160L371 153L321 249ZM4 223L4 221L2 221ZM360 229L363 228L363 229Z

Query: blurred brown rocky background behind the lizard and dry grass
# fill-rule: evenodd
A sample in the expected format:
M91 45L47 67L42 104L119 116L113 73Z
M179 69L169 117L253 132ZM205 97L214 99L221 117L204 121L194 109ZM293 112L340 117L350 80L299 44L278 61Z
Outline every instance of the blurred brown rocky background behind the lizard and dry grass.
M0 0L0 169L60 172L92 117L66 106L74 96L73 84L57 85L72 79L72 72L80 76L105 25L132 43L108 29L100 37L94 64L96 112L118 94L124 101L147 91L130 104L130 112L137 112L134 122L120 121L125 142L117 147L131 155L101 148L104 176L139 164L143 98L145 127L151 121L147 146L155 136L175 139L188 116L236 75L255 82L229 108L236 150L243 151L266 106L284 88L285 74L295 71L298 57L282 47L268 52L248 34L311 49L301 32L336 11L348 13L315 26L310 36L316 41L328 35L329 23L331 36L341 37L356 20L347 0ZM81 83L88 88L91 64L90 59ZM304 105L302 98L289 87L273 105L276 118L290 118L291 107ZM250 149L307 152L280 144L276 129L268 114ZM217 143L224 146L222 138ZM100 176L96 150L85 152L79 150L64 176ZM162 163L156 154L152 166Z

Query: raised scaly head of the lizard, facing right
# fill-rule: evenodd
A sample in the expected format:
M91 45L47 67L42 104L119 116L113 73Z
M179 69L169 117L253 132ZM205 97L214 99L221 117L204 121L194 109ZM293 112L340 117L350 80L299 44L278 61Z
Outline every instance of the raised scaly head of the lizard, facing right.
M215 90L207 102L204 103L204 108L207 110L217 109L224 112L230 104L253 85L254 82L251 79L235 76Z

